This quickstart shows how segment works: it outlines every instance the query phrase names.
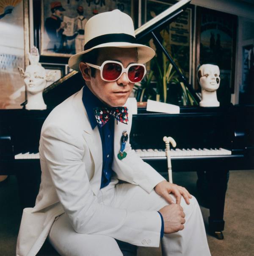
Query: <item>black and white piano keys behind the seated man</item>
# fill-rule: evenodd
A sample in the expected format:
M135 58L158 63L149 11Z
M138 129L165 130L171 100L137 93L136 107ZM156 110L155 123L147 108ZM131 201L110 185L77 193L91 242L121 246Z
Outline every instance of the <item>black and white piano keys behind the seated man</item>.
M166 152L165 149L136 149L135 152L140 156L142 159L166 159ZM192 148L192 149L171 149L170 156L172 159L174 158L191 158L191 157L213 157L213 156L227 156L231 155L231 151L224 149L224 148ZM15 155L15 159L40 159L39 152L38 153L19 153Z

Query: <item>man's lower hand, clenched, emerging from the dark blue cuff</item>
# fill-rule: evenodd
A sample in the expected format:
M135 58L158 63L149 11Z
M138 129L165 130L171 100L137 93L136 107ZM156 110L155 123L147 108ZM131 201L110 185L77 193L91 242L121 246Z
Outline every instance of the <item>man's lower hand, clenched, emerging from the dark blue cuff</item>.
M164 233L170 234L184 229L185 213L179 204L171 204L161 208L160 213L164 221Z

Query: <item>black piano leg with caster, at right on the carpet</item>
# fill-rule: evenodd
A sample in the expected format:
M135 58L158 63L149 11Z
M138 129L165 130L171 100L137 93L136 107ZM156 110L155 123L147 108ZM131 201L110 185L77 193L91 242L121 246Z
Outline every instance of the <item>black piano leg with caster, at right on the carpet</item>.
M210 217L209 228L213 236L223 239L224 230L224 204L229 171L216 170L206 172L209 188Z

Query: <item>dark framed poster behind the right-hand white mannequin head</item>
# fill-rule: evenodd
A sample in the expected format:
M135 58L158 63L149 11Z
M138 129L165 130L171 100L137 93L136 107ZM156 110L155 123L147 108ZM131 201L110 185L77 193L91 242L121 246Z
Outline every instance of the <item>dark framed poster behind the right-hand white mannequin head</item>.
M220 68L220 88L234 93L237 16L197 8L196 67L215 64ZM196 81L195 89L199 85Z

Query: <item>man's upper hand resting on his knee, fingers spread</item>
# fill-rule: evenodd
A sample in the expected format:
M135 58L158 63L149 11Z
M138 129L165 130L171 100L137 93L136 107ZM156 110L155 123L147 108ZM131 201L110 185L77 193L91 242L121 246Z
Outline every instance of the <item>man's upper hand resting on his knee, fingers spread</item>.
M181 198L185 199L187 204L190 203L189 198L192 198L191 194L182 186L177 186L176 184L169 183L168 181L161 181L155 186L155 191L158 195L161 195L167 200L168 203L174 203L173 198L169 195L173 193L177 198L177 203L180 204Z

